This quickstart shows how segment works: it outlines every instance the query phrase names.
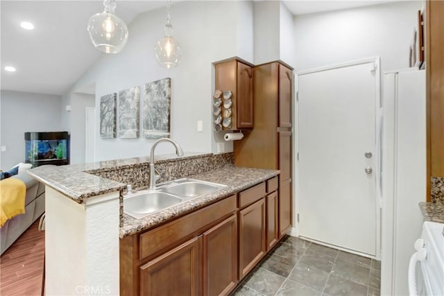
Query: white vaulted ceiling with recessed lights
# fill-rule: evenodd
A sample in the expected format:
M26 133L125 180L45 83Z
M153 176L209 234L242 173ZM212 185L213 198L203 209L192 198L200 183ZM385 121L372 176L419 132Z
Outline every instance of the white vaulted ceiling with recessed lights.
M284 1L294 15L382 2ZM102 54L86 31L89 17L103 10L102 1L1 0L0 5L1 89L63 94ZM129 24L139 13L164 6L166 1L120 0L116 13ZM35 29L24 30L22 21L31 21ZM6 72L9 65L17 71Z

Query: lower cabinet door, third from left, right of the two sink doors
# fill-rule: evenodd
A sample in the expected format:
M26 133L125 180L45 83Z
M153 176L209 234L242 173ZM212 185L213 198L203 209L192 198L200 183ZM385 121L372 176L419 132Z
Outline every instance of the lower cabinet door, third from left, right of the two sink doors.
M239 279L266 253L265 199L239 211Z

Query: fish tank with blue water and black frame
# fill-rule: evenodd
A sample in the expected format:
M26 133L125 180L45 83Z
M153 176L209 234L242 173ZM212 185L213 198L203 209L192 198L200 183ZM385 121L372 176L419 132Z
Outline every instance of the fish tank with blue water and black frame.
M69 133L25 132L25 162L33 167L69 164Z

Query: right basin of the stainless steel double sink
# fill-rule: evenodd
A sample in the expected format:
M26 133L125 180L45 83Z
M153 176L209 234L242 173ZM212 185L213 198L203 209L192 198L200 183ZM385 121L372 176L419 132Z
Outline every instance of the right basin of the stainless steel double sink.
M203 182L199 180L180 179L162 187L162 191L178 195L182 198L196 198L218 191L226 185L211 182Z

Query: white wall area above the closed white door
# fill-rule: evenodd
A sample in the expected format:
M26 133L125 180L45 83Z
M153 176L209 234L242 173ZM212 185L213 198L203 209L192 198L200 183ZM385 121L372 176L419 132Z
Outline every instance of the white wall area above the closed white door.
M295 70L381 57L382 72L409 67L409 45L422 1L294 17Z

